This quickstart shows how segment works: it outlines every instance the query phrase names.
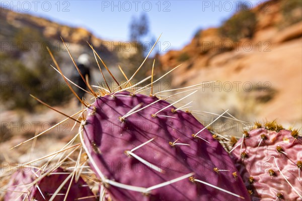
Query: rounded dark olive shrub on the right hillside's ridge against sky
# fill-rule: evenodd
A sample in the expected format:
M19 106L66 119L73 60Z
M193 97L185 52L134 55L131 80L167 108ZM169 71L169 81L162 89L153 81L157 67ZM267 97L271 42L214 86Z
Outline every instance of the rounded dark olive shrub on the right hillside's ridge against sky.
M242 38L252 38L255 32L257 19L256 14L250 10L241 9L229 20L224 21L218 29L218 33L223 38L238 41Z

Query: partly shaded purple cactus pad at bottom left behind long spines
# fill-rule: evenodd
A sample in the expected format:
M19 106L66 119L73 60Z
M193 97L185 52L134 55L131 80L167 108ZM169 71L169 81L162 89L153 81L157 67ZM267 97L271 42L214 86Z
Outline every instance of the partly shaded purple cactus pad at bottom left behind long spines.
M70 184L70 172L58 168L41 175L40 171L36 171L30 167L22 167L22 171L16 171L6 189L5 200L64 200ZM61 184L63 186L56 192ZM81 198L90 201L96 200L87 183L80 177L78 182L73 180L71 183L66 200Z

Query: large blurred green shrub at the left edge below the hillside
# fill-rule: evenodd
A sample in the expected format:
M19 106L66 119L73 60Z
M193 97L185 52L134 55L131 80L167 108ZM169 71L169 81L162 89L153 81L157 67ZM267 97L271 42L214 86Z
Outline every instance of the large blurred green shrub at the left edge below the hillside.
M33 41L38 44L32 46ZM46 40L37 31L21 29L12 41L19 48L8 49L0 54L1 100L8 109L32 110L37 101L33 94L50 105L61 104L70 92L59 74L50 67L52 60L41 44ZM31 44L25 46L24 44ZM44 43L45 44L45 43ZM47 43L50 44L50 43ZM51 48L50 49L54 49ZM56 58L57 52L53 51Z

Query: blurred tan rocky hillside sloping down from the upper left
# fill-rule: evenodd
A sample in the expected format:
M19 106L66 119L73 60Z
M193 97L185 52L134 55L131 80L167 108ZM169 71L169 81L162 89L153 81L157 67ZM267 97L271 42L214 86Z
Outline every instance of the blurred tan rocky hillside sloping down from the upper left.
M23 54L31 51L36 46L44 51L46 46L50 46L55 52L63 52L64 45L60 37L72 50L75 58L82 53L92 55L92 51L87 44L89 42L97 52L101 53L102 59L108 65L117 65L119 60L132 56L136 51L135 48L131 48L127 52L120 51L125 49L122 47L125 44L120 41L102 40L82 27L69 27L44 18L16 13L4 8L1 8L0 25L2 51L14 52L14 54ZM129 43L126 45L129 45ZM66 55L66 58L68 58L68 54L61 56L65 57Z

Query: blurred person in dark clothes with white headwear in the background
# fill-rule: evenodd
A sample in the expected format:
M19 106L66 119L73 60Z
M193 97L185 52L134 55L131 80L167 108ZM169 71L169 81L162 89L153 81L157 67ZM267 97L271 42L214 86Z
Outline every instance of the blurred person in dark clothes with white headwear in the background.
M79 70L82 73L84 79L86 80L86 76L88 76L88 78L90 78L90 61L89 61L88 54L81 54L78 58L77 65L78 65ZM73 79L74 83L77 84L78 86L80 86L86 90L88 89L86 83L84 82L83 78L81 77L81 75L77 69L75 69L73 71L72 79ZM79 87L75 88L75 92L79 95L79 97L81 99L85 96L85 91ZM79 102L79 105L81 105L80 102Z

